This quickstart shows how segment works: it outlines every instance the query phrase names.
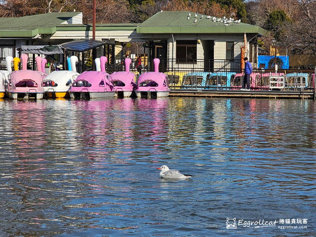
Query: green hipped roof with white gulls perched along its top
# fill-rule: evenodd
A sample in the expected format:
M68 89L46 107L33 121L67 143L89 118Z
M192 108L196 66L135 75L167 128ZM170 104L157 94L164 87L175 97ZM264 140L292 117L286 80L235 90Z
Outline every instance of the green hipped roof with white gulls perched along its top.
M191 13L188 20L189 13ZM197 14L188 11L164 11L158 12L137 27L137 33L258 33L268 36L269 32L261 27L246 23L229 23L225 26L222 22L213 22L206 19L207 15ZM216 17L216 19L219 17ZM193 22L194 20L197 22Z

